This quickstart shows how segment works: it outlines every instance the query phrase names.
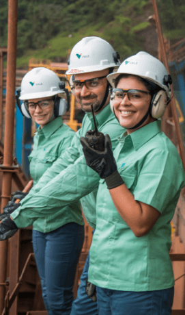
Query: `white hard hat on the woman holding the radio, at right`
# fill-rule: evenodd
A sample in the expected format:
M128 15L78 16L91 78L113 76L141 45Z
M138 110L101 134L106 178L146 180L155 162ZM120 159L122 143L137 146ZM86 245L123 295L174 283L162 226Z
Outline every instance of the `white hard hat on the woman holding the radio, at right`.
M115 78L120 74L138 75L147 81L151 81L160 88L169 92L171 77L169 76L164 64L150 53L139 51L122 62L116 73L111 73L107 79L111 86L114 86Z

